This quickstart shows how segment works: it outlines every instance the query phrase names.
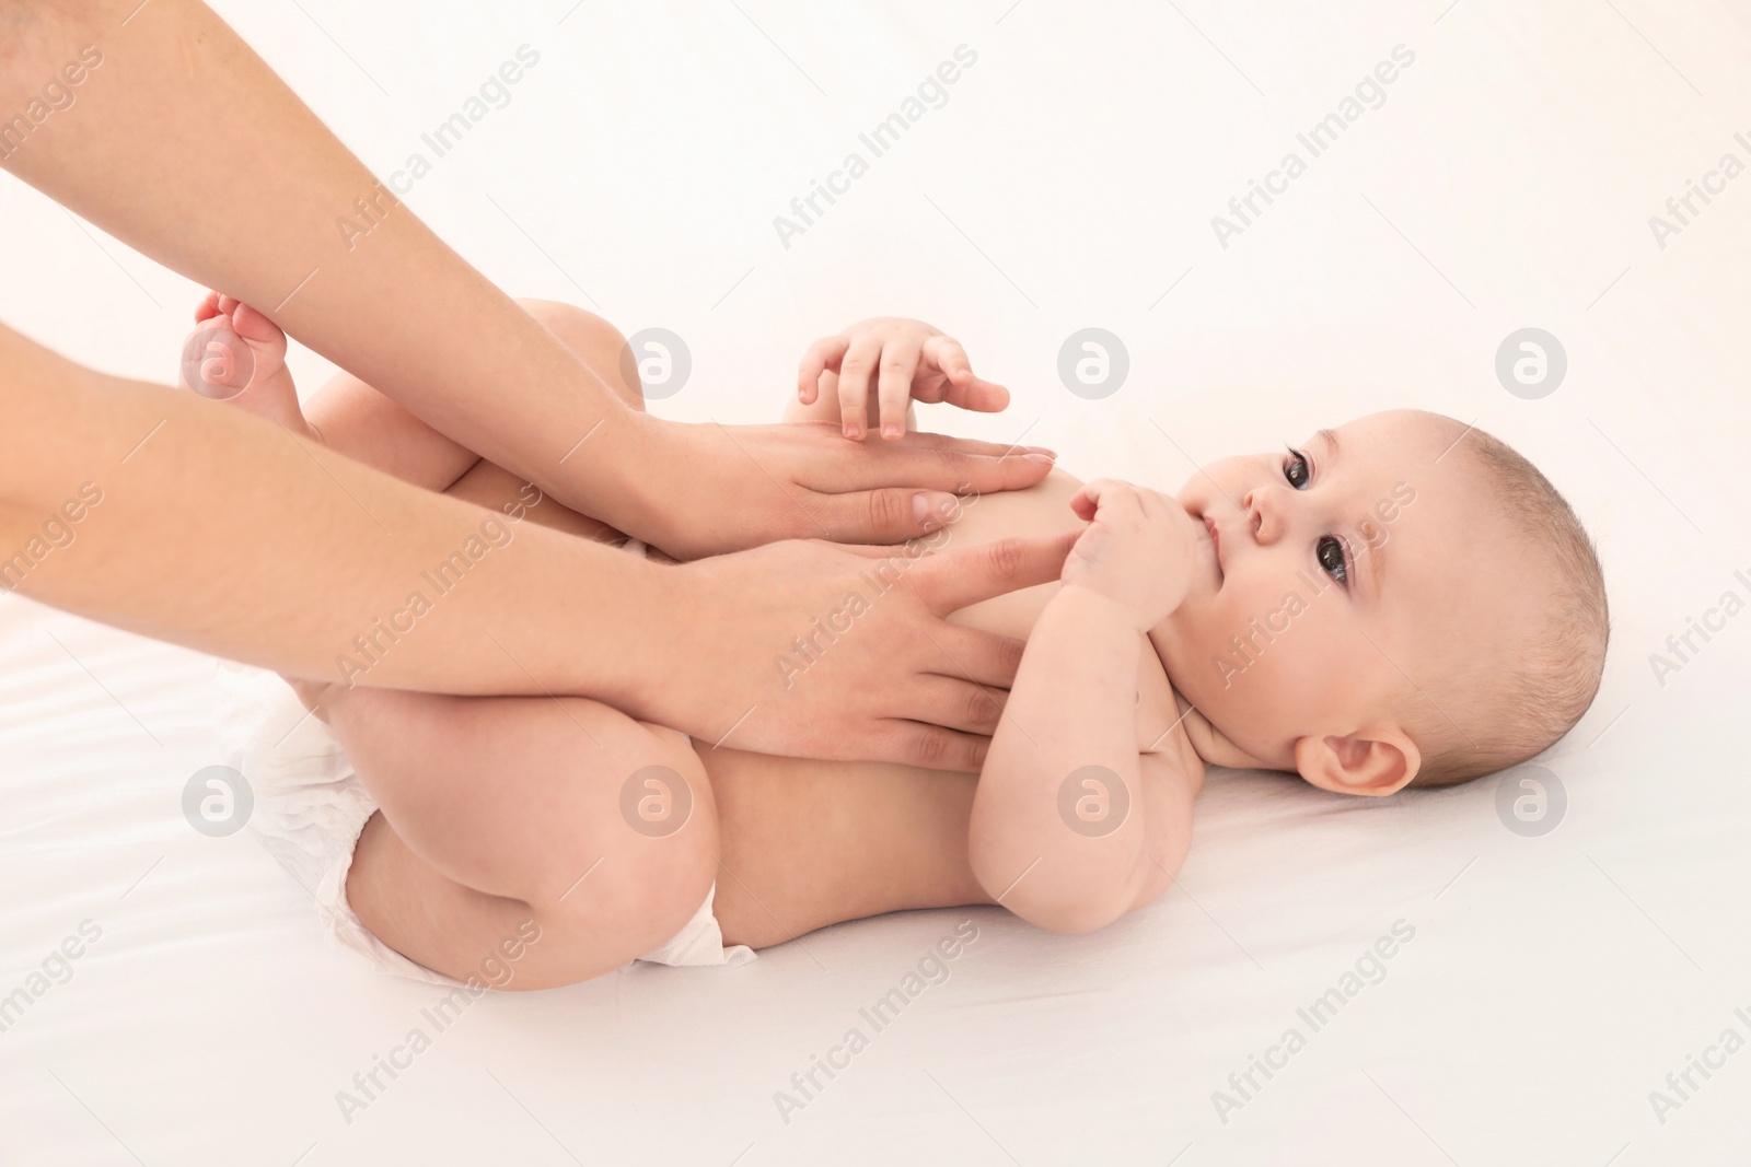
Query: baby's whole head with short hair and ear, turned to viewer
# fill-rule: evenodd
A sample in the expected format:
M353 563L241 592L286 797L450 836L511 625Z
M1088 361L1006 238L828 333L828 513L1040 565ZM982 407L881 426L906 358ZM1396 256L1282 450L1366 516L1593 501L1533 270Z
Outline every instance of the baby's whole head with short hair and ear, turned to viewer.
M1375 413L1213 462L1177 499L1210 537L1150 640L1206 761L1352 794L1446 786L1541 752L1599 689L1592 541L1481 430Z

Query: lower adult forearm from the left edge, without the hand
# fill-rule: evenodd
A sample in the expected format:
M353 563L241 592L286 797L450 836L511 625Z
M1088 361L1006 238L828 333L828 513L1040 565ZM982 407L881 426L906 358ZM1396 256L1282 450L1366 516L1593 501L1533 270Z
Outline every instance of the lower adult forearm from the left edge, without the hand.
M5 329L0 409L0 586L56 607L305 677L609 703L674 619L637 556Z

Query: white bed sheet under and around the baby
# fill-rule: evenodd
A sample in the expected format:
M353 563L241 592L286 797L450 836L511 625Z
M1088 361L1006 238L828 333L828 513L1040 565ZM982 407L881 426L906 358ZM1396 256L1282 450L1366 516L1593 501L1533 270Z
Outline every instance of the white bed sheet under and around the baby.
M347 1122L336 1092L432 1029L436 990L322 947L247 833L184 822L215 761L212 660L0 597L0 994L102 929L0 1032L0 1160L1746 1162L1751 1053L1663 1122L1649 1092L1751 1038L1751 618L1663 684L1648 660L1751 595L1751 178L1665 247L1648 224L1751 159L1742 0L221 10L382 173L534 47L410 205L517 294L679 332L693 378L658 413L774 418L804 345L876 313L947 327L1016 390L930 423L1026 434L1082 476L1177 486L1189 458L1441 409L1571 495L1616 635L1543 759L1569 807L1541 838L1502 826L1494 780L1347 801L1217 773L1178 887L1100 934L904 913L737 971L494 996ZM772 217L963 44L947 103L784 247ZM1385 103L1222 248L1210 217L1399 44ZM222 178L215 143L215 213ZM172 378L198 289L12 180L0 240L0 318ZM1107 401L1056 378L1086 325L1129 348ZM1569 357L1541 401L1494 376L1525 325ZM326 366L294 369L308 390ZM951 976L872 1032L858 1010L968 919ZM1415 938L1385 980L1311 1032L1297 1008L1397 920ZM1306 1048L1219 1115L1292 1025ZM868 1048L783 1115L853 1027Z

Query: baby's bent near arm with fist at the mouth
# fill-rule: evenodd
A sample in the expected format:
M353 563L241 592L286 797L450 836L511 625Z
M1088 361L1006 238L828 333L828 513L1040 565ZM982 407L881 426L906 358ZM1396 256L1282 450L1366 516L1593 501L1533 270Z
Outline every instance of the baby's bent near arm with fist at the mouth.
M1182 730L1143 742L1138 724L1142 653L1185 595L1191 520L1112 481L1072 506L1094 525L1028 637L968 836L986 892L1059 933L1103 927L1168 887L1203 786Z

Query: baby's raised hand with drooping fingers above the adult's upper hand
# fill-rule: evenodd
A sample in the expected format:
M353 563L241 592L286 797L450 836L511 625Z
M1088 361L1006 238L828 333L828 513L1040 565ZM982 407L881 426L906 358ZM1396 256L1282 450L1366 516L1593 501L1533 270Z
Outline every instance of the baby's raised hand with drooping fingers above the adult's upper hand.
M998 413L1009 390L974 376L967 350L953 336L923 320L877 317L825 336L802 357L797 397L811 406L821 392L821 374L839 374L839 413L846 437L863 439L868 416L870 374L876 374L881 436L905 434L907 401L947 401L961 409Z

